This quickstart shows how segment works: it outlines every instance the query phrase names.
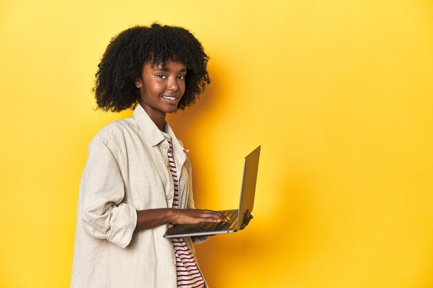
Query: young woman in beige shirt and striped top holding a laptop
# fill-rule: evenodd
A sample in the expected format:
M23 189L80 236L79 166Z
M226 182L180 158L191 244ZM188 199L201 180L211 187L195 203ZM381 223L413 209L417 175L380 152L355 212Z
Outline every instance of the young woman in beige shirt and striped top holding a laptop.
M210 83L208 59L179 27L136 26L111 40L96 73L96 102L104 111L134 111L89 145L71 287L205 287L193 247L203 239L163 234L172 223L225 221L194 209L190 162L165 122Z

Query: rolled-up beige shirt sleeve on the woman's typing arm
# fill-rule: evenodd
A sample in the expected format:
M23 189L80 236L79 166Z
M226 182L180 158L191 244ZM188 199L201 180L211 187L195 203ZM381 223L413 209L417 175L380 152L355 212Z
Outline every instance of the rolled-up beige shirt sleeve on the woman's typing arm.
M125 248L136 229L136 209L122 201L125 185L108 139L97 136L89 145L82 177L82 219L86 233Z

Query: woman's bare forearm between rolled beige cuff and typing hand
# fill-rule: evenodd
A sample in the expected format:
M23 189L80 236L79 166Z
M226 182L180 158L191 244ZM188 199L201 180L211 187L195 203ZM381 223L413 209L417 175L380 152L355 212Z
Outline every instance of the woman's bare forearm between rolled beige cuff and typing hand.
M151 229L172 222L174 209L160 208L137 211L136 231Z

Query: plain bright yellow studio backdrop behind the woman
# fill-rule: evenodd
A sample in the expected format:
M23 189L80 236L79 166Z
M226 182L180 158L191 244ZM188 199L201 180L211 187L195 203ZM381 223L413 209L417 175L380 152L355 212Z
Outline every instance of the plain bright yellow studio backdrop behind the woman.
M237 207L262 145L255 219L196 247L210 287L433 287L432 1L2 0L1 288L68 287L87 145L131 115L94 111L93 76L153 21L211 57L169 117L197 206Z

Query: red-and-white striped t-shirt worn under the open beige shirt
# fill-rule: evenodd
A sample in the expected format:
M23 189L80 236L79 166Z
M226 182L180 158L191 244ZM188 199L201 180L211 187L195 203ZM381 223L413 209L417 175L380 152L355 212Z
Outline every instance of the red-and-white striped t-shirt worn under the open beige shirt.
M178 177L176 171L176 162L173 157L173 145L171 137L167 133L163 133L165 139L169 143L169 150L167 151L169 169L172 173L173 184L174 184L174 197L172 208L178 209L179 207L179 189L178 189ZM169 224L171 228L173 224ZM177 286L183 288L203 288L205 280L197 267L196 259L192 254L192 251L185 243L183 238L172 238L172 244L174 248L174 254L176 256L176 274L177 274Z

